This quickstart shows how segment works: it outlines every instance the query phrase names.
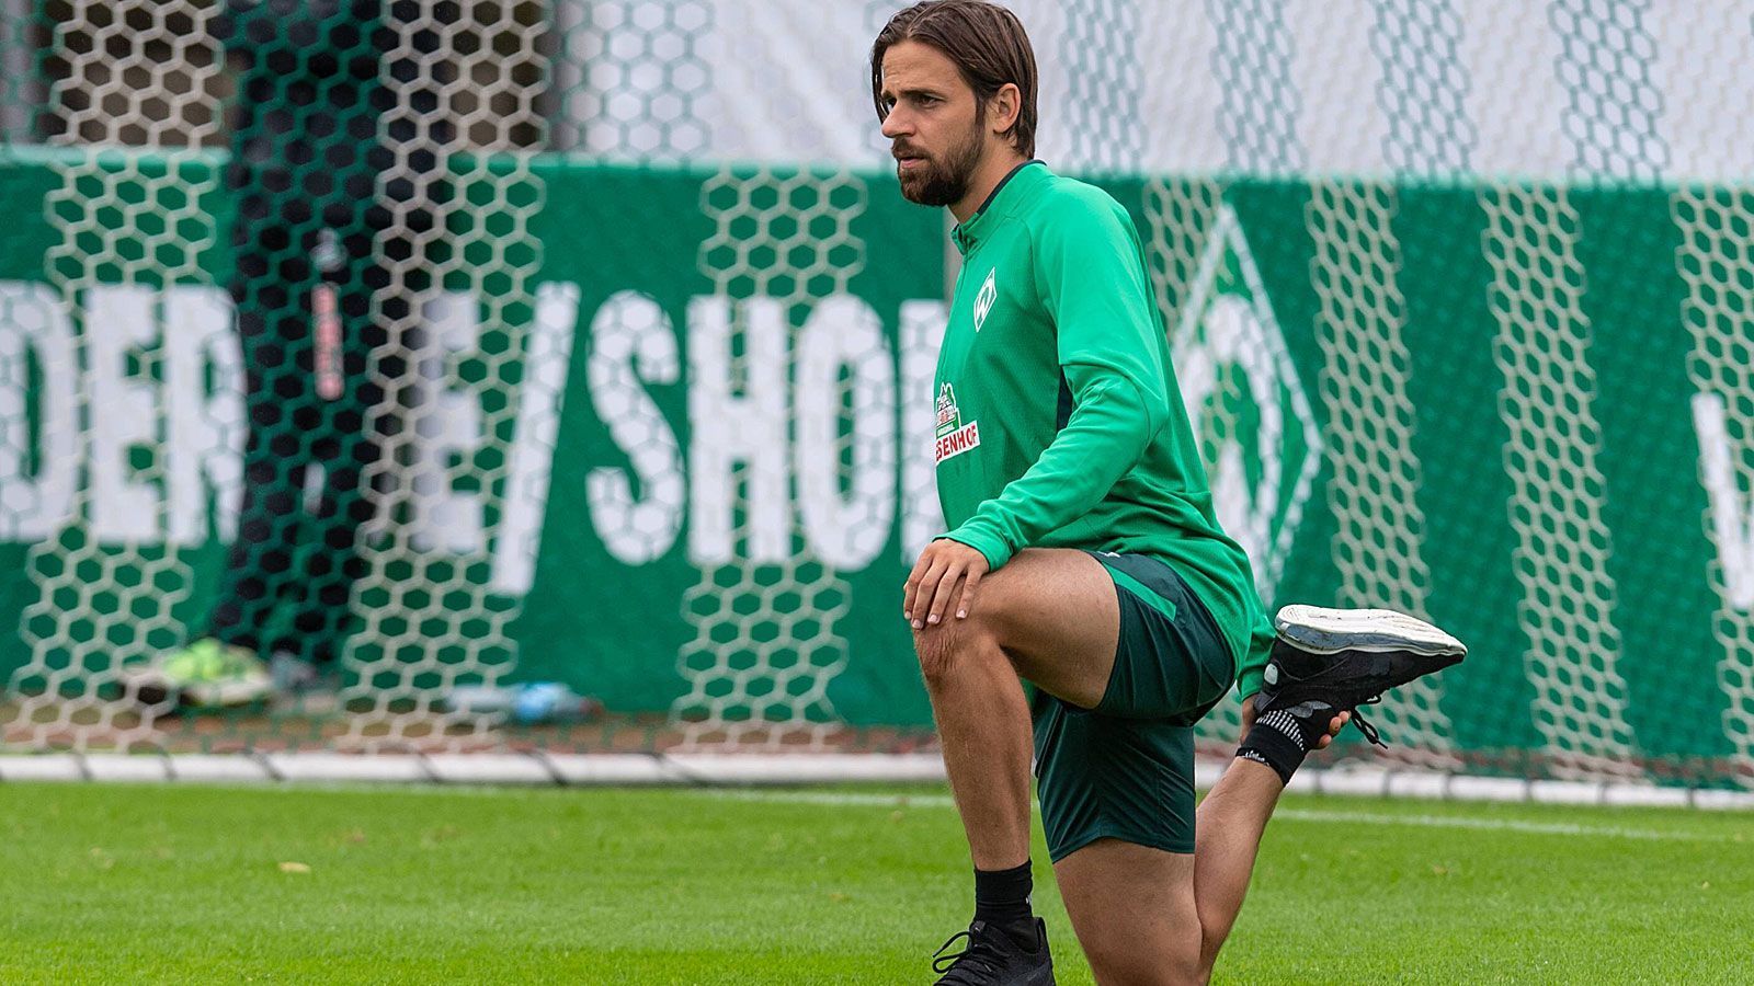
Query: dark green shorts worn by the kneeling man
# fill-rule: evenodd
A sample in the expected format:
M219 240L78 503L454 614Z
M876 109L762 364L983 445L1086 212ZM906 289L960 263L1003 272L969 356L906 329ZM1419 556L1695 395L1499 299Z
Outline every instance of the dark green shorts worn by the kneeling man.
M1121 640L1094 709L1037 695L1035 777L1058 863L1098 839L1194 851L1193 726L1237 663L1217 621L1166 563L1091 553L1121 602Z

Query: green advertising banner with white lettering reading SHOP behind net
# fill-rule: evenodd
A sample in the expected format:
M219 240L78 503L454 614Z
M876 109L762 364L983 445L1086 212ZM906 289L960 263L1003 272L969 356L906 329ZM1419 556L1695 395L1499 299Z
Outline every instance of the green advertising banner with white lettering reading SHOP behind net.
M200 223L193 256L105 246L121 260L75 275L58 265L103 230L58 221L70 179L0 167L7 202L42 204L0 237L14 682L100 661L114 621L91 612L132 607L126 646L144 653L212 602L242 440L214 167L133 161L132 181L170 168L200 198L182 218L109 218ZM395 521L458 560L472 589L456 605L498 621L516 679L617 712L930 723L898 600L938 532L942 212L854 172L537 158L495 174L460 202L493 198L512 246L456 246L461 274L426 300L417 432L440 465ZM1384 704L1393 742L1484 770L1749 775L1745 202L1100 184L1147 244L1221 519L1263 595L1412 611L1468 642L1463 665ZM103 561L118 553L126 565ZM188 575L156 609L109 591L167 556ZM449 589L410 602L419 586L375 572L356 604L379 612L375 637L358 646L419 640L419 619L396 637L382 612L444 609ZM456 632L430 646L468 651Z

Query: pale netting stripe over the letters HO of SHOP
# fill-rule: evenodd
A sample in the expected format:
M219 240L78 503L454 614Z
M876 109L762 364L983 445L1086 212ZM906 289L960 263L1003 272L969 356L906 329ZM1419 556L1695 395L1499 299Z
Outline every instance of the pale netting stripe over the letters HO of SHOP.
M859 504L893 504L854 489L851 516L793 516L793 502L840 498L842 446L852 486L888 482L895 470L893 370L875 312L817 304L845 295L865 265L852 221L863 212L865 181L837 174L747 175L723 170L703 188L714 235L700 263L712 279L712 333L696 337L698 411L693 463L730 474L730 502L695 502L696 523L714 533L700 582L682 597L696 628L681 653L688 695L675 714L689 746L821 744L835 725L826 691L845 668L847 640L837 621L851 607L837 563L870 558L888 539L889 516L859 516ZM752 298L738 302L737 298ZM837 318L838 316L838 318ZM740 340L740 344L738 344ZM842 382L838 368L854 368ZM798 404L796 430L786 395ZM872 428L842 435L844 402ZM814 405L809 407L807 405ZM807 428L814 423L817 428ZM796 458L788 456L796 449ZM793 493L823 484L816 497ZM696 486L705 488L705 486ZM742 491L742 495L738 495ZM826 537L824 537L826 535ZM833 540L838 554L823 558Z

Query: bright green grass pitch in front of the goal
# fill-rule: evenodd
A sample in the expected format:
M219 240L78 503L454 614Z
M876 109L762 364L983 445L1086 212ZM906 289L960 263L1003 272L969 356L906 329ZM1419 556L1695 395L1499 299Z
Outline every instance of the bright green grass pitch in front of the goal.
M928 982L970 909L942 788L11 782L0 874L0 982ZM1216 979L1749 982L1754 818L1287 798Z

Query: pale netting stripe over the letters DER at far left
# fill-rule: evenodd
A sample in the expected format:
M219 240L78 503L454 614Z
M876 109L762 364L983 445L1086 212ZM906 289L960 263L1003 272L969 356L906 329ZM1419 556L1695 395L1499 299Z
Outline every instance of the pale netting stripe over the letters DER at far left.
M119 668L177 644L172 612L193 588L177 547L200 537L205 488L235 511L239 367L200 261L217 239L202 207L217 175L184 151L217 132L210 16L193 2L79 2L37 35L65 67L37 119L56 149L54 244L46 288L11 291L5 337L14 379L26 349L39 361L47 440L37 481L7 498L35 602L9 688L19 698L0 709L7 739L33 746L151 740L165 705L116 702ZM23 33L9 19L7 35ZM172 321L182 332L165 333ZM28 419L11 411L21 449Z

